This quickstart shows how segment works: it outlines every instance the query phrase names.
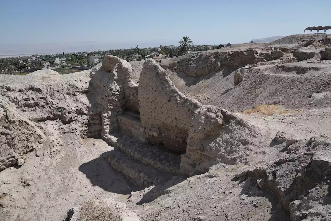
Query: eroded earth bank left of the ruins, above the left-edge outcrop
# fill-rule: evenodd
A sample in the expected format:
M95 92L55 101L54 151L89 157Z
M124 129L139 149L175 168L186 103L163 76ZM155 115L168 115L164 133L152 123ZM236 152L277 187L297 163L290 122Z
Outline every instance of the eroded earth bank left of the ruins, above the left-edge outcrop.
M39 70L25 76L1 76L0 96L7 97L33 122L61 120L72 123L81 136L87 134L89 101L88 74L60 75L52 70Z

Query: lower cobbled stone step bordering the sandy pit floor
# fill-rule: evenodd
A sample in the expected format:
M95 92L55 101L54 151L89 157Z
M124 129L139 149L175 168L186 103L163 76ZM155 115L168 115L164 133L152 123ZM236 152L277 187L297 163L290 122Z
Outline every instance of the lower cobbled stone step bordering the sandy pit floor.
M103 157L116 171L122 173L126 179L139 186L161 184L170 180L173 176L131 159L118 149L104 153Z

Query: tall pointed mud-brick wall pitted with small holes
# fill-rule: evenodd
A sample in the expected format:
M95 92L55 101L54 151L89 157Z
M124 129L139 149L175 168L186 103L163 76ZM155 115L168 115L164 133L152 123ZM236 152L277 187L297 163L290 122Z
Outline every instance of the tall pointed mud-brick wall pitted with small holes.
M143 65L138 98L147 140L185 152L190 122L201 104L180 93L166 71L153 60L146 60Z

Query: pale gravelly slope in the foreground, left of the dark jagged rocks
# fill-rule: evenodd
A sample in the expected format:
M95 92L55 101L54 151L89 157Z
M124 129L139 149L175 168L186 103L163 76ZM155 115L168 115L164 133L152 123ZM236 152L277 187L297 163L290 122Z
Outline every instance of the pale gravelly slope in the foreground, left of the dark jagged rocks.
M277 200L256 182L236 181L241 166L212 169L184 181L135 192L127 204L141 220L289 220ZM161 196L160 196L161 195Z

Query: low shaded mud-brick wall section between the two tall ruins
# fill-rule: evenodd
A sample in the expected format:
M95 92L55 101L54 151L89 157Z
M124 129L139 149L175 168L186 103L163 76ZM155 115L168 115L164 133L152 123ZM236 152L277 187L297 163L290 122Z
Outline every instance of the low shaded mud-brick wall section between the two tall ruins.
M145 142L144 128L141 125L140 119L128 114L117 115L118 126L122 133L131 135L137 140Z

